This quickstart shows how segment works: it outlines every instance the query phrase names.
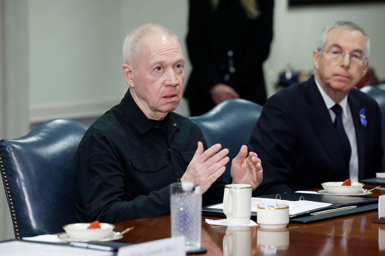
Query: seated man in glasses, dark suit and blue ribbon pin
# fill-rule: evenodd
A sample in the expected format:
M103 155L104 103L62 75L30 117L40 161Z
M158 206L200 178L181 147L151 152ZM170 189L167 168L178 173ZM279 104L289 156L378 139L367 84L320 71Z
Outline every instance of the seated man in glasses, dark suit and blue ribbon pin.
M367 71L369 49L362 28L336 22L313 51L314 76L269 98L249 142L264 164L254 194L359 181L382 170L380 110L354 89Z

